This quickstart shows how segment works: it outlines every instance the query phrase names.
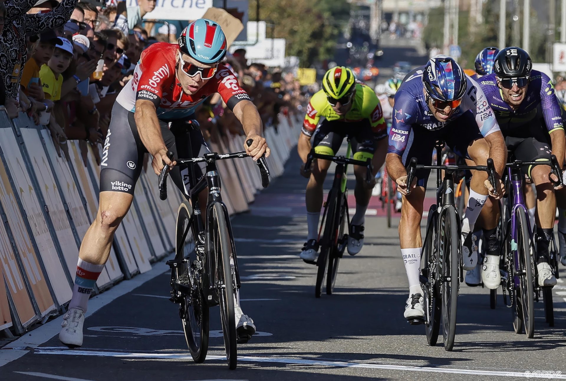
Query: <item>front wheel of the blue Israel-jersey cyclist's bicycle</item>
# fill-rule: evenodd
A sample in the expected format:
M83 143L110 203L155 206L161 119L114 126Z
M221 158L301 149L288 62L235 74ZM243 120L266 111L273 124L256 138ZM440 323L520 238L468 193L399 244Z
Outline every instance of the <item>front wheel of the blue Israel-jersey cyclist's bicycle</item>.
M440 295L442 297L442 335L444 350L451 351L456 336L456 312L458 301L458 286L460 273L460 235L458 234L456 209L447 206L444 214L444 237L441 238L440 249Z

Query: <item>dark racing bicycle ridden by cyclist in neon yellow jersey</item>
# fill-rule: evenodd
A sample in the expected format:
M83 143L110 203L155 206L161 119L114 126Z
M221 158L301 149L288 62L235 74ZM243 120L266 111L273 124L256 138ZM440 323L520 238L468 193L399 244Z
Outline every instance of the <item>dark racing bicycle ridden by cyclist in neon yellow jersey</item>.
M350 229L350 215L348 212L348 188L346 188L346 170L348 164L367 166L366 181L372 180L371 159L366 161L350 159L351 145L348 138L348 150L346 156L332 156L316 153L314 149L308 154L305 168L311 168L313 159L330 160L336 163L334 181L332 188L328 192L328 197L324 203L324 213L319 229L320 254L315 261L305 262L316 264L315 297L320 298L326 277L326 293L331 295L336 282L340 259L344 255L344 250L348 246L348 234L346 234L346 224L348 232ZM322 235L321 235L322 233ZM328 264L328 266L327 266Z

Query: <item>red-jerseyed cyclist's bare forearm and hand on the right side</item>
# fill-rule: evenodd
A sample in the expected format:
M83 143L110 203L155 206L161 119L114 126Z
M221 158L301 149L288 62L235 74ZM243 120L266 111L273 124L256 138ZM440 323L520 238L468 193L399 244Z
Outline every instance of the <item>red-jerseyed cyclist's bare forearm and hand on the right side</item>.
M246 133L246 140L254 140L254 143L252 143L250 147L244 144L248 155L253 156L254 160L258 160L264 153L265 157L269 157L271 151L269 147L267 147L265 138L261 136L262 123L258 108L256 108L251 101L242 100L234 106L232 111L240 123L242 123L244 132Z

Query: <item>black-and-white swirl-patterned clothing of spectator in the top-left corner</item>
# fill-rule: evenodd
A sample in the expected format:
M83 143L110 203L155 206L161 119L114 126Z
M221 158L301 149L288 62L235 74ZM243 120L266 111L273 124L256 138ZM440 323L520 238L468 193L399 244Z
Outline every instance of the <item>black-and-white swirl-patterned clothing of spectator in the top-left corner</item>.
M36 0L18 0L6 3L5 24L0 41L0 76L6 95L16 99L22 70L27 61L28 49L25 36L38 35L46 29L61 27L70 18L77 0L62 0L48 13L26 14ZM41 0L40 0L41 2Z

